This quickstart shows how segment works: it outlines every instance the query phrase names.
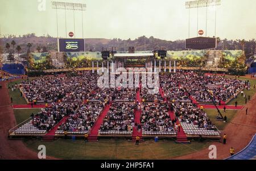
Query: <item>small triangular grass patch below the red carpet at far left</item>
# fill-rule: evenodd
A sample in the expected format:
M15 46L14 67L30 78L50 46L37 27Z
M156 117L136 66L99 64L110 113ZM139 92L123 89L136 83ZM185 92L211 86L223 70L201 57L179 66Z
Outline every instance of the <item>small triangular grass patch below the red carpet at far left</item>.
M32 113L36 114L39 111L41 111L41 109L14 109L16 124L22 123L24 120L28 119Z

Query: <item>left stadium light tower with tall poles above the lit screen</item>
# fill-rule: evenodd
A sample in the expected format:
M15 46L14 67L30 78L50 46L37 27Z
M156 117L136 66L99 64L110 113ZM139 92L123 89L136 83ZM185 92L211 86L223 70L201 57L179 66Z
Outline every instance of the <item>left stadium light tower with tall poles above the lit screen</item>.
M74 20L74 32L76 37L76 23L75 23L75 11L82 12L82 38L84 39L84 12L86 10L85 3L69 3L69 2L52 2L52 9L56 10L56 19L57 19L57 37L59 38L59 28L58 28L58 14L57 10L65 10L65 31L67 37L67 10L73 11L73 20Z

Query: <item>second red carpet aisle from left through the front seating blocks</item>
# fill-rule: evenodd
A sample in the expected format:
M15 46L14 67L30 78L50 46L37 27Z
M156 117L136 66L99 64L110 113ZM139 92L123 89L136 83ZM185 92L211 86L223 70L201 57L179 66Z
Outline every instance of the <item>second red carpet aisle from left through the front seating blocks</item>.
M90 130L90 134L88 136L88 141L97 141L98 140L98 130L101 127L103 119L108 114L108 111L109 111L111 105L112 105L112 102L110 102L109 105L106 105L104 107L104 109L102 110L101 114L98 116L96 123L94 123L92 130Z

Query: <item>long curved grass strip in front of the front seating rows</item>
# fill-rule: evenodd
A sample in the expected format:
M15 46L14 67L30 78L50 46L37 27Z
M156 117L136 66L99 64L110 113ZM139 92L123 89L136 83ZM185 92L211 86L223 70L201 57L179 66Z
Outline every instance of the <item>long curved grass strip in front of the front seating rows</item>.
M23 140L33 151L38 152L38 145L46 145L46 155L58 159L171 159L172 157L188 155L207 148L207 142L192 142L189 145L176 144L174 140L160 140L157 143L153 140L139 145L128 142L124 139L100 139L97 142L85 143L83 140L58 139L53 142L40 140Z

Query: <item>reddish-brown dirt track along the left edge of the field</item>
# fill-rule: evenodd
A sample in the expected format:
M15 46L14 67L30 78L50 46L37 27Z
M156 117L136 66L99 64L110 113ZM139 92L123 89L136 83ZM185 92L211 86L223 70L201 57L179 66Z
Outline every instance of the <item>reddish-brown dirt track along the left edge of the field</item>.
M36 152L28 149L22 140L9 140L8 130L16 124L5 82L0 82L0 159L38 159ZM47 157L47 159L54 159Z

